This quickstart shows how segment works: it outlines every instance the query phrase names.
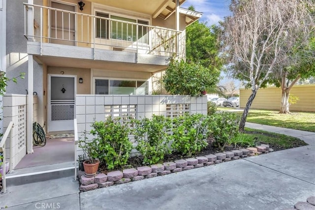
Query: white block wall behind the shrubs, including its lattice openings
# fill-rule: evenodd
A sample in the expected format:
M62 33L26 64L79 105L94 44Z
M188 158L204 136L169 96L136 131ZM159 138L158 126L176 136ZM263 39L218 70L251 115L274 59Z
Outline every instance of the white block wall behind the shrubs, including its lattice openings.
M163 115L174 118L188 114L207 114L207 96L189 95L76 95L78 135L91 131L95 121L120 117L121 121ZM87 134L89 140L93 136ZM132 139L130 139L132 143ZM77 148L78 154L81 149Z

